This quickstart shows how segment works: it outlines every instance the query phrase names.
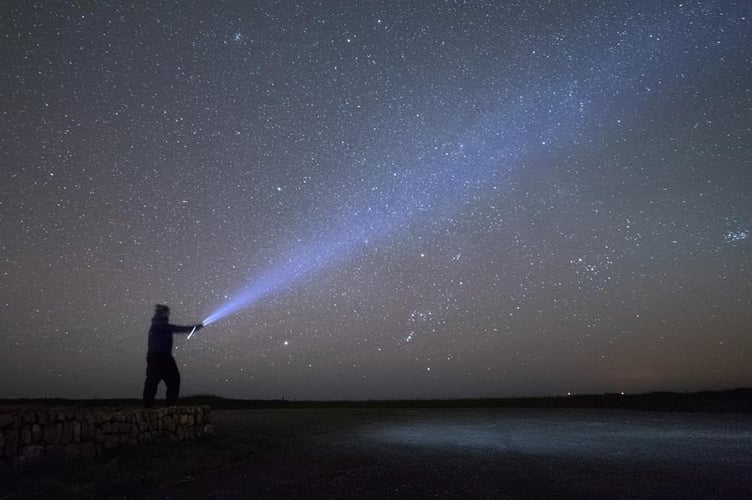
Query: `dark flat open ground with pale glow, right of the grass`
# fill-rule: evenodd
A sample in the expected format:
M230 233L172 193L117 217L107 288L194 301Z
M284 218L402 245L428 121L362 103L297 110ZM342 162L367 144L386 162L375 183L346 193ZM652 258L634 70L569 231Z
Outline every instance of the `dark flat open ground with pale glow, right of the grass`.
M272 437L229 467L136 495L752 498L752 415L572 409L214 412Z

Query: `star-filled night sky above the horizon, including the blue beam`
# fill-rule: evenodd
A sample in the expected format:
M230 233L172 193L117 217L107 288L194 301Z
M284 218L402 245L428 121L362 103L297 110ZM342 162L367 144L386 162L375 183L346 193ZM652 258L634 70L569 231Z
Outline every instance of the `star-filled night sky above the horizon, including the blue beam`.
M749 2L0 9L0 397L752 384Z

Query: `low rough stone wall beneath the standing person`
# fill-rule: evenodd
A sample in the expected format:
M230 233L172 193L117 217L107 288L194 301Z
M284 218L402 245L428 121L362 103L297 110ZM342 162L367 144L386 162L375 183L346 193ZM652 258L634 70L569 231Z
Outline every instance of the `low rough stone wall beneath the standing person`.
M208 406L119 411L0 408L0 465L39 457L97 457L152 439L196 439L213 431Z

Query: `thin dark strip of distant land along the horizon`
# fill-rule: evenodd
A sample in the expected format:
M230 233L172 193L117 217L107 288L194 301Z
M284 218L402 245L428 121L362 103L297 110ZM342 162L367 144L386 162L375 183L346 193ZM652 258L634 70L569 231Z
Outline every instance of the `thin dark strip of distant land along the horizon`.
M307 401L287 399L228 399L213 395L181 398L179 405L208 405L217 410L323 408L594 408L645 411L752 413L752 388L700 392L644 394L583 394L549 397L474 399L395 399ZM60 406L67 408L140 407L139 399L2 399L0 406Z

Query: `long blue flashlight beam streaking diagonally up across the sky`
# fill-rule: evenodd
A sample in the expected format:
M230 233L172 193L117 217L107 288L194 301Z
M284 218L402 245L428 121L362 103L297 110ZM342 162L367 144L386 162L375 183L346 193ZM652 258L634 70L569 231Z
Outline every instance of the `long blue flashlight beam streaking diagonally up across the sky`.
M526 82L529 88L507 93L510 97L452 141L442 143L417 134L416 139L426 144L424 154L406 160L398 171L375 172L349 201L332 210L334 216L318 234L251 279L209 314L204 325L336 266L372 243L396 238L427 219L431 223L451 216L491 189L505 189L513 172L541 155L561 158L612 133L605 127L617 122L614 115L636 116L650 99L670 94L672 84L681 83L662 73L667 62L674 68L701 63L700 54L683 50L701 34L678 30L686 19L675 19L669 11L666 16L663 22L635 27L630 43L622 40L604 48L596 58L600 64L583 58L579 67L572 63L558 80ZM652 32L666 23L673 23L664 26L667 32L683 34L658 46ZM625 52L621 47L639 50ZM694 61L690 55L696 57ZM709 59L712 53L701 55ZM639 83L651 77L663 79L664 84L662 92L653 90L646 97Z

